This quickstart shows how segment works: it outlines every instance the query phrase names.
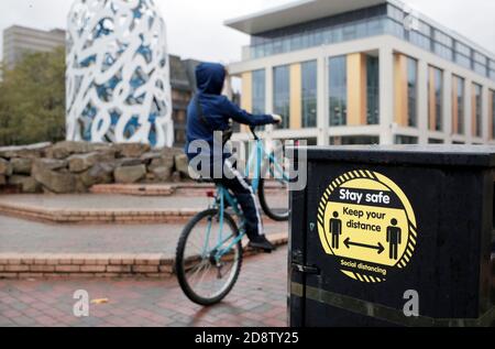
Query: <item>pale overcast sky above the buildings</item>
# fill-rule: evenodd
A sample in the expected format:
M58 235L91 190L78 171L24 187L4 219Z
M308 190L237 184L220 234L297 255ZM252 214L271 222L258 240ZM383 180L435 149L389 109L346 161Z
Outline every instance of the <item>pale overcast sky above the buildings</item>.
M293 0L155 0L168 30L168 51L185 58L240 59L249 37L223 26L227 19ZM332 1L332 0L328 0ZM494 0L406 0L418 11L495 52ZM0 0L0 32L12 24L66 26L72 0ZM2 43L0 35L0 44ZM1 57L1 53L0 53Z

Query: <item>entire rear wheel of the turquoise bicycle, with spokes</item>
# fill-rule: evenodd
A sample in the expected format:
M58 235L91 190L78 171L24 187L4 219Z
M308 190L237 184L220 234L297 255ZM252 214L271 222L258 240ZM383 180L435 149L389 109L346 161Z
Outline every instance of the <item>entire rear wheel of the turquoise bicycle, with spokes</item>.
M194 303L210 306L221 302L238 281L242 243L235 221L218 209L193 218L180 236L175 271L180 288Z

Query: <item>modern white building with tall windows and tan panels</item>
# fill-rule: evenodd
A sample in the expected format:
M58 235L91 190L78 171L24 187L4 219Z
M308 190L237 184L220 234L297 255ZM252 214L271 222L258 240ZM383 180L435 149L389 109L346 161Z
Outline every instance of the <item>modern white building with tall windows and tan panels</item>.
M495 144L495 55L397 0L301 0L226 22L251 35L242 106L309 144ZM248 132L237 134L248 139Z

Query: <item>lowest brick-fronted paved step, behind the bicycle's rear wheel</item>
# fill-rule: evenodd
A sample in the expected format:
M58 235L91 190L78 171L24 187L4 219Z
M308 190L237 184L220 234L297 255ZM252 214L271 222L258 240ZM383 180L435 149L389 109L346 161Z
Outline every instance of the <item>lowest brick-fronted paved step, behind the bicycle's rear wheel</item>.
M277 247L287 244L287 233L268 235ZM246 247L244 257L257 254ZM170 253L0 253L1 279L34 277L169 277Z

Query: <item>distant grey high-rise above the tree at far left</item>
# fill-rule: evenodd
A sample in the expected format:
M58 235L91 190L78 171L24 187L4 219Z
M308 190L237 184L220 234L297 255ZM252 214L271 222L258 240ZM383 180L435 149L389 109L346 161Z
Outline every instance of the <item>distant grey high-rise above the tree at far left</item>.
M12 69L26 53L51 52L65 47L65 31L42 31L13 25L3 31L3 64Z

